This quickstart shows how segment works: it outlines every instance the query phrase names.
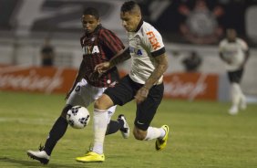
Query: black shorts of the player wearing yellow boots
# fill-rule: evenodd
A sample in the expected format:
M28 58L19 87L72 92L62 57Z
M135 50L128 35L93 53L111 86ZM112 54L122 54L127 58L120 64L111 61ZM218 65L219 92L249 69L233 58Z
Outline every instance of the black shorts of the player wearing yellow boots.
M105 94L113 101L115 105L122 106L127 102L134 100L137 91L142 87L142 84L134 82L127 75L119 81L113 88L105 90ZM146 100L137 104L137 115L134 124L143 131L147 131L149 124L152 121L159 103L163 97L163 83L154 85L149 89L149 95Z

